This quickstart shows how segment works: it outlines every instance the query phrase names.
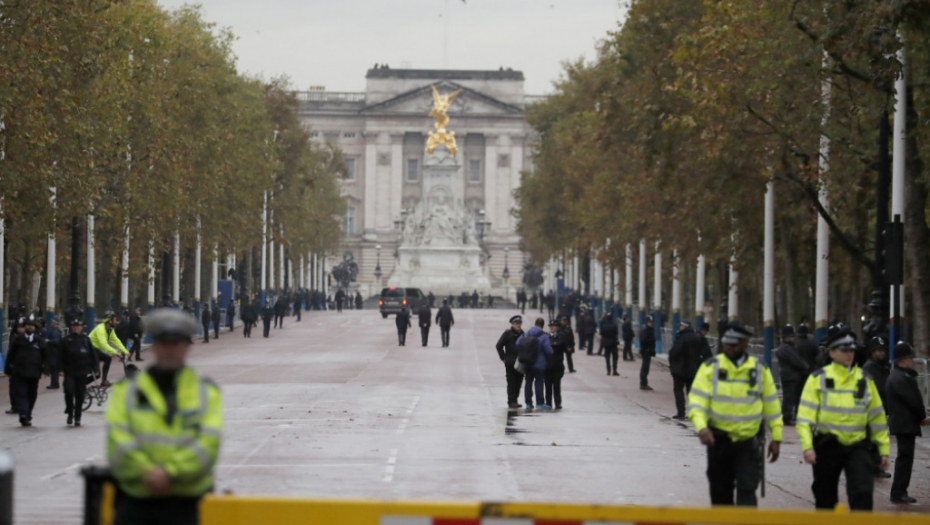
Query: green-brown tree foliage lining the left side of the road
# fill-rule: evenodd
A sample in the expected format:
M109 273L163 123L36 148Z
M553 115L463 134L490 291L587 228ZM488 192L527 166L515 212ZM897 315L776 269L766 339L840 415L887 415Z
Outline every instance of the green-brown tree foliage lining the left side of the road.
M83 230L88 215L98 305L114 300L127 235L131 302L145 301L150 243L160 257L175 232L186 297L208 297L189 289L197 236L205 259L214 247L247 257L266 194L270 238L292 261L338 244L341 154L310 141L285 80L237 72L233 40L195 8L152 0L0 4L8 303L30 301L39 282L66 295L71 251L42 279L46 236L67 248L73 218Z

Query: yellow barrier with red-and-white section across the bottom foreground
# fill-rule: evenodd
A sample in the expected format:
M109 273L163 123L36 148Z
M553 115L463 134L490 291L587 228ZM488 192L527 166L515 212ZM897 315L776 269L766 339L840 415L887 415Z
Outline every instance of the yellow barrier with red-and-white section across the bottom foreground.
M850 513L842 507L837 511L738 507L691 509L632 505L314 500L242 496L208 496L201 506L201 525L380 525L383 517L391 516L446 518L438 521L463 525L481 518L521 518L560 525L583 522L636 525L930 525L930 516Z

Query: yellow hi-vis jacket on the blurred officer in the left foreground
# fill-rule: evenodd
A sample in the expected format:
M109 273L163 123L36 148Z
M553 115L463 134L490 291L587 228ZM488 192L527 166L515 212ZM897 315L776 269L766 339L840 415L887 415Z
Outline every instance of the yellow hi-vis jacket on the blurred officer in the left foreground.
M116 385L107 406L107 458L120 489L151 497L145 474L162 467L171 496L197 497L213 487L223 407L219 388L190 368L176 379L177 411L167 420L164 396L147 372Z

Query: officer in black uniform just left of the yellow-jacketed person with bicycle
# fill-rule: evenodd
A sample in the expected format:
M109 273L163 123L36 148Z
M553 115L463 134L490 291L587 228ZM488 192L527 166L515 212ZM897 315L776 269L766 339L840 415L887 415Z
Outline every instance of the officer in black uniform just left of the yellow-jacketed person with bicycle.
M65 413L69 425L81 426L81 409L87 392L88 376L100 377L100 359L90 338L84 334L79 316L71 319L70 332L61 340L58 359L65 373Z

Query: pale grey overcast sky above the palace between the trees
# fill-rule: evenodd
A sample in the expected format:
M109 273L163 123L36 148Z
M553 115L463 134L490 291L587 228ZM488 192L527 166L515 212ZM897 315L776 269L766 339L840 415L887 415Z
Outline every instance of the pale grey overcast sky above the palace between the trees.
M200 4L238 36L239 69L287 75L297 89L364 91L375 63L392 68L498 69L551 92L564 60L594 57L625 15L620 0L159 0Z

